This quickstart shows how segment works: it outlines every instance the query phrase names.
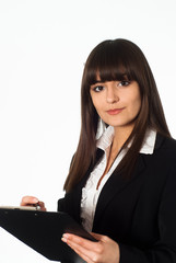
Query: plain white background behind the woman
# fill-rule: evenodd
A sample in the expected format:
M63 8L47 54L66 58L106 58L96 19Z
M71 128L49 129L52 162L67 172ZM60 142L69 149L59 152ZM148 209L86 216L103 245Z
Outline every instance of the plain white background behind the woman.
M34 195L57 209L79 139L83 66L104 39L144 52L176 138L175 13L175 0L0 0L0 205ZM0 262L49 261L0 229Z

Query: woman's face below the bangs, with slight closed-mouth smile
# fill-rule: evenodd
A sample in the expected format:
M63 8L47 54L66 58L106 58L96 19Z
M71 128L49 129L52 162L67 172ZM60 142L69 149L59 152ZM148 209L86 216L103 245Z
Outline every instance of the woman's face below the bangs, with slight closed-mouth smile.
M90 89L99 117L115 128L131 127L141 107L139 84L136 81L97 82Z

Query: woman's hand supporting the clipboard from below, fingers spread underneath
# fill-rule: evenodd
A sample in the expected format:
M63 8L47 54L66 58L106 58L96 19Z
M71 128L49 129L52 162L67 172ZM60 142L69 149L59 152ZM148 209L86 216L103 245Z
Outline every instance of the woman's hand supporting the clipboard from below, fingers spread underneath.
M62 241L87 263L119 263L119 245L106 236L91 233L98 242L64 233Z

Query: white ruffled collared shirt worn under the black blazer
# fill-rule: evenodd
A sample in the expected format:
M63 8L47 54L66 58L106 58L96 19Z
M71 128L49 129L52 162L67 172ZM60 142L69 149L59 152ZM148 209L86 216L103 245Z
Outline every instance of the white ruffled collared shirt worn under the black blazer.
M94 170L90 174L90 178L85 186L82 188L81 219L82 219L83 227L87 231L92 230L96 204L103 186L105 185L106 181L109 179L109 176L112 175L116 167L119 164L121 159L127 153L128 148L130 147L129 145L127 148L120 151L120 153L115 159L113 165L110 167L109 171L102 179L101 184L97 188L99 179L102 178L107 165L107 159L110 151L113 138L114 138L114 127L108 126L108 128L104 132L101 138L97 139L97 142L96 142L97 148L102 149L105 153L102 158L102 161L94 168ZM155 139L156 139L156 132L152 129L146 130L140 152L145 155L152 155L154 150Z

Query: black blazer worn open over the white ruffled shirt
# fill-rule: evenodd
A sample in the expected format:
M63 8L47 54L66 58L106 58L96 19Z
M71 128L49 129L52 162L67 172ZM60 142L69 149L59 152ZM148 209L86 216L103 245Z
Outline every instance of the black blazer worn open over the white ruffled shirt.
M80 220L90 168L58 210ZM153 155L139 153L130 179L114 172L99 195L93 231L118 242L120 263L176 263L176 140L156 136Z

